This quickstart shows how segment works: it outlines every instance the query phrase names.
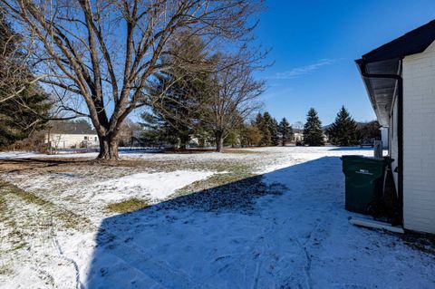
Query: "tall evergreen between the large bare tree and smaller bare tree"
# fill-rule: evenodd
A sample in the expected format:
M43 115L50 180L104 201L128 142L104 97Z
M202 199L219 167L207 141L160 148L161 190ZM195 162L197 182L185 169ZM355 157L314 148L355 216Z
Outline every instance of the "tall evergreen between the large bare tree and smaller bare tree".
M171 48L177 57L163 58L163 63L170 63L171 69L156 73L156 81L150 85L150 95L160 96L161 101L153 105L151 112L142 114L142 119L154 127L154 134L161 134L160 141L179 144L180 149L186 149L190 137L199 130L200 107L209 81L208 72L189 67L186 61L207 63L205 47L198 36L188 39L183 34L179 36L179 42Z

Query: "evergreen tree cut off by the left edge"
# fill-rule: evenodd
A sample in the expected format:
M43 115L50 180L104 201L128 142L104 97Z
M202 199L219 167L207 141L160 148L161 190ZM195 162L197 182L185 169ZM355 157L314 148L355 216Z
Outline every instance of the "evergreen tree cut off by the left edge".
M0 80L4 84L0 89L0 147L42 130L52 106L43 89L32 84L32 73L17 49L19 41L20 37L0 12ZM15 77L11 77L12 72ZM14 95L17 91L20 92Z

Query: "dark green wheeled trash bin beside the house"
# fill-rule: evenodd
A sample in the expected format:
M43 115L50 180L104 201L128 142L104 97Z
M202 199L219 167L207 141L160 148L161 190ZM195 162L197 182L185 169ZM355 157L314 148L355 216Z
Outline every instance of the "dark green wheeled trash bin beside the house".
M345 208L367 214L367 208L382 197L383 176L389 159L343 156Z

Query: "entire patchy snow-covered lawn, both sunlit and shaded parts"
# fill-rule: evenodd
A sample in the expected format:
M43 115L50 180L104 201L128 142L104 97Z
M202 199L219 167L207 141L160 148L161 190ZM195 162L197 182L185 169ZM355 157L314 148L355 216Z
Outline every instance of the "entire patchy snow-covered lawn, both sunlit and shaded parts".
M0 153L0 287L434 288L433 244L348 223L343 154Z

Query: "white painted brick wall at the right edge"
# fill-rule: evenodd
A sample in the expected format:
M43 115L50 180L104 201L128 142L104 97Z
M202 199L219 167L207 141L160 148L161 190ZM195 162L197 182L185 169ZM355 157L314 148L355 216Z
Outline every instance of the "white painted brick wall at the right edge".
M403 219L435 234L435 43L403 59Z

